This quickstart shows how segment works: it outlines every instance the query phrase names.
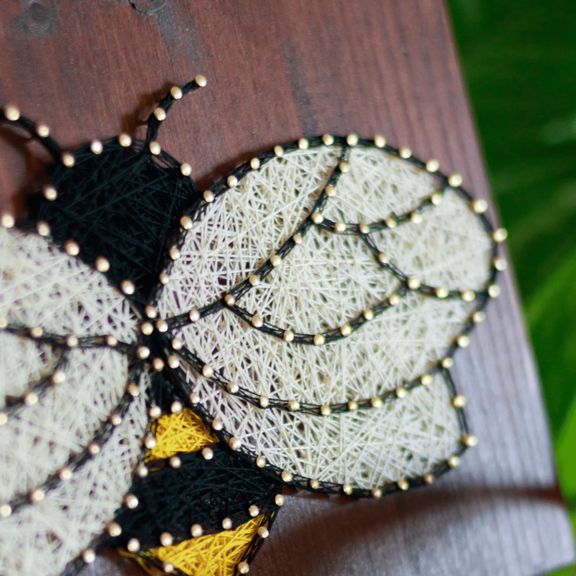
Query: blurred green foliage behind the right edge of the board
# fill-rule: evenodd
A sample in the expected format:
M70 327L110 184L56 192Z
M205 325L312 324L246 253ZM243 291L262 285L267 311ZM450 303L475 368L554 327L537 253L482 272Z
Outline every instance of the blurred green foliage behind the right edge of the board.
M576 526L576 2L448 6Z

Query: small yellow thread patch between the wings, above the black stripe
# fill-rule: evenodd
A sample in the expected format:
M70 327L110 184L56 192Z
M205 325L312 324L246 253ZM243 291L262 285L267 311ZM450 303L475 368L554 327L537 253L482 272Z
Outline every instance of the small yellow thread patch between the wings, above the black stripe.
M210 433L200 416L190 408L184 408L180 414L161 416L154 426L156 446L146 456L146 460L169 458L179 452L196 452L209 444L218 442Z

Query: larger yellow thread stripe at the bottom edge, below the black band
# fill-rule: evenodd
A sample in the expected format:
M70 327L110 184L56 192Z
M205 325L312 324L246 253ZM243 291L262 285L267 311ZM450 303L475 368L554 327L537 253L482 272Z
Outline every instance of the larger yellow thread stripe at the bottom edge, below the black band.
M156 557L160 562L171 562L190 576L232 576L263 521L264 515L258 516L234 530L192 538L175 546L144 552L142 555Z

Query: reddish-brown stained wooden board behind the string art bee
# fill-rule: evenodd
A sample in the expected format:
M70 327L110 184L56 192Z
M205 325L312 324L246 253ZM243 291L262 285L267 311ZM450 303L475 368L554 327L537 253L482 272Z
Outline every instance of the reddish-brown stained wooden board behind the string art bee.
M488 198L441 0L5 0L0 54L0 104L65 146L140 134L170 85L203 73L207 87L160 136L202 186L302 135L381 132ZM3 207L21 207L43 170L23 143L2 131ZM509 272L502 286L457 358L480 438L461 468L382 501L287 497L251 574L532 576L573 560ZM84 575L138 572L126 562L100 559Z

